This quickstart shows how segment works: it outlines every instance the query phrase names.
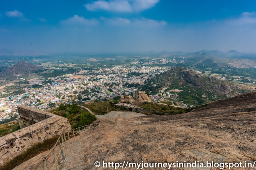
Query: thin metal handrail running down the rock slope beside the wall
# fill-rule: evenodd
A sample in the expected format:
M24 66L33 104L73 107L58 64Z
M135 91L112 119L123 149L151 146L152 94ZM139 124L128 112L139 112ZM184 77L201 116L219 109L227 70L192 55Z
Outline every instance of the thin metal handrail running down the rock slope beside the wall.
M106 123L93 123L93 124L90 124L90 125L85 125L85 126L81 126L81 127L78 127L78 128L75 128L75 129L71 129L71 130L66 130L67 128L71 127L66 127L65 130L60 134L60 136L58 137L58 140L56 141L54 147L52 147L52 149L48 152L48 154L46 154L46 156L44 156L43 158L41 158L40 160L38 160L38 164L36 164L36 167L33 169L33 170L36 170L38 168L38 166L40 166L40 164L43 164L44 166L44 170L47 170L47 164L46 164L46 159L47 157L50 155L51 152L53 152L54 154L54 164L52 166L52 168L50 168L51 170L53 170L53 168L56 166L56 169L57 170L60 170L59 168L59 164L58 164L58 158L60 157L60 154L62 154L62 159L63 161L65 161L65 157L64 157L64 152L66 150L66 141L67 141L67 137L68 137L68 141L70 143L70 137L74 137L74 141L75 141L75 136L77 134L80 135L80 138L81 138L81 132L80 132L80 128L83 128L82 131L84 131L84 133L86 132L85 128L90 126L90 128L87 129L87 131L89 131L89 129L91 130L91 133L92 133L92 129L95 128L96 129L96 125L99 125L99 129L100 129L100 124L104 124L105 126L105 131L106 131L106 124L110 124L111 125L111 129L115 129L115 126L116 126L116 119L115 118L110 118L113 120L113 122L106 122ZM92 127L92 125L94 127ZM78 133L75 133L75 130L78 129ZM73 134L69 134L69 132L72 131ZM101 130L100 130L101 131ZM68 136L66 136L66 132L68 132ZM60 141L61 140L61 141ZM60 146L60 152L58 153L58 156L56 154L56 150L55 150L55 147L59 145Z

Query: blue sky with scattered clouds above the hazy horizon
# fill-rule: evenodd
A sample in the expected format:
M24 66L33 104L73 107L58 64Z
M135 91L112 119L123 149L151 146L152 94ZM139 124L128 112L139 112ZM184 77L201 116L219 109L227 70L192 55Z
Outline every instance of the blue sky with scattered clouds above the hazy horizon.
M0 51L256 52L255 0L8 0Z

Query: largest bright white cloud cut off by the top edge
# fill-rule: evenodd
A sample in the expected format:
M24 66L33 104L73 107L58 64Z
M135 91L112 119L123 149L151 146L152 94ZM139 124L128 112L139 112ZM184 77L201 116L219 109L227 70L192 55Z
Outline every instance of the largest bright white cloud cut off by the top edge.
M154 7L159 0L97 0L84 6L88 11L138 12Z

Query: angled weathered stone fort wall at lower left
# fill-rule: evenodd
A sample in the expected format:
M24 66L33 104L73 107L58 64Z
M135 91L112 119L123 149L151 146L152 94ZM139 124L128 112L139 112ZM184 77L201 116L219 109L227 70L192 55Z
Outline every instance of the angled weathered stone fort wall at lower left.
M71 129L68 119L52 113L27 106L18 106L18 112L23 118L33 121L34 124L0 137L0 165L10 161L33 145L60 135L65 129Z

